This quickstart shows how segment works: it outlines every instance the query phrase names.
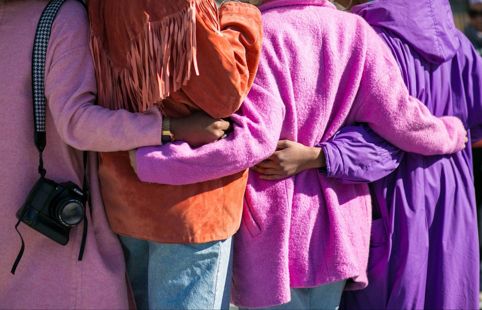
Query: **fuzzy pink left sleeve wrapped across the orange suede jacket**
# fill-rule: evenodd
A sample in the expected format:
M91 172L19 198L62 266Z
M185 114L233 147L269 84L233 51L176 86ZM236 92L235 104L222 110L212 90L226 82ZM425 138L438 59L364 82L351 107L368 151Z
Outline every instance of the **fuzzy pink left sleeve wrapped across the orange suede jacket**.
M192 149L185 142L139 148L137 175L144 182L183 185L242 171L271 155L280 138L284 105L258 85L231 116L227 138Z

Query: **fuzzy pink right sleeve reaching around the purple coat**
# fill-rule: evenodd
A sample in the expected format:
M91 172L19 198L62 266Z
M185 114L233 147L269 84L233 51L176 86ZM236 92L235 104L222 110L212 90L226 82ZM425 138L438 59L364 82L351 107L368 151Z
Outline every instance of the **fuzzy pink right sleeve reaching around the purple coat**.
M421 155L460 151L465 143L460 119L432 116L423 103L409 96L391 52L373 29L365 31L365 63L352 120L367 123L404 151Z

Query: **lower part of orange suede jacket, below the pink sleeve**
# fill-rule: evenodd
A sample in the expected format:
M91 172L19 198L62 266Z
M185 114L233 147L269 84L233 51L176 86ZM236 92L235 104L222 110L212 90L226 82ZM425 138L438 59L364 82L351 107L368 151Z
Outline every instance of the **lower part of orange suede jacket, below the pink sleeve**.
M161 243L202 243L238 230L247 170L188 185L144 183L127 152L99 157L99 176L109 180L101 189L114 232Z

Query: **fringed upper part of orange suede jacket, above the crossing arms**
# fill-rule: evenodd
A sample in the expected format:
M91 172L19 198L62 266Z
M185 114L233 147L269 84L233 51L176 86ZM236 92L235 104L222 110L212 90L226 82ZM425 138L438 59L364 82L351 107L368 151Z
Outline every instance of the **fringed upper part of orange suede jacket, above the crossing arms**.
M105 2L110 6L101 9L112 17L109 10L118 9L115 1ZM119 25L106 21L100 24L109 29L91 27L99 105L144 112L158 104L164 115L177 117L186 114L187 105L215 118L228 117L240 107L259 62L261 13L253 5L228 2L220 17L214 0L186 3L156 21L145 14L147 22L133 27L139 29L138 35L124 50L114 46L125 42L124 30L115 36L109 33L109 29L119 31ZM128 8L132 13L142 11ZM92 13L98 14L96 9ZM98 20L103 21L101 17ZM142 15L133 18L142 19ZM126 25L121 23L120 28ZM103 46L106 31L113 38ZM122 61L113 61L117 58L108 54L109 48Z

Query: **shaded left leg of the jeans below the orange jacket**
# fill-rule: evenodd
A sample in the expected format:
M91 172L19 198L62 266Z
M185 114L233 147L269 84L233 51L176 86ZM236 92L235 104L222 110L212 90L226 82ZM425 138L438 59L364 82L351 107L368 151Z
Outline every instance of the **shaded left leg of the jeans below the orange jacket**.
M119 235L124 251L127 276L131 283L135 305L139 310L149 309L147 289L147 266L149 245L146 240Z

